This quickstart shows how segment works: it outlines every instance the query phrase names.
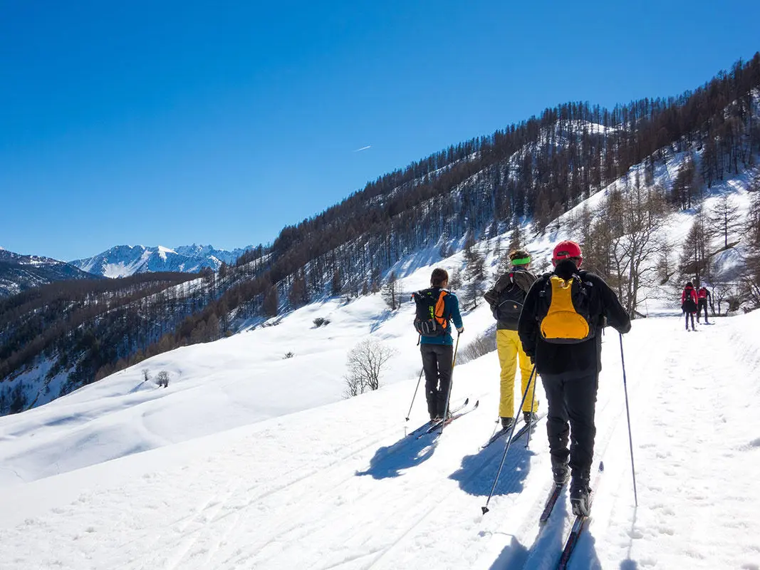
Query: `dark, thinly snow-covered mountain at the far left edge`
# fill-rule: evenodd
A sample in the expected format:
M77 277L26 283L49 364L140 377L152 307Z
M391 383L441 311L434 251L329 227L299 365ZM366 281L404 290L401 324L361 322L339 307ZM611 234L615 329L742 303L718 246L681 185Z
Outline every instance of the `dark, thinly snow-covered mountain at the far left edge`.
M68 279L97 279L97 276L65 261L0 248L0 297Z

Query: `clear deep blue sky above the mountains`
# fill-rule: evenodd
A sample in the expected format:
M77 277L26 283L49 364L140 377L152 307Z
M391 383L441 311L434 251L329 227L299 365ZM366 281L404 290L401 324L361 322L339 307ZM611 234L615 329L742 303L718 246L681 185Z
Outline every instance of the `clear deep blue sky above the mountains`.
M271 242L547 106L698 87L758 21L749 0L0 0L0 246Z

